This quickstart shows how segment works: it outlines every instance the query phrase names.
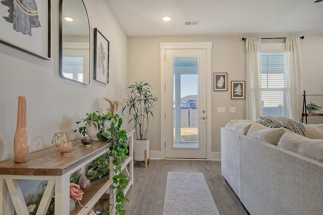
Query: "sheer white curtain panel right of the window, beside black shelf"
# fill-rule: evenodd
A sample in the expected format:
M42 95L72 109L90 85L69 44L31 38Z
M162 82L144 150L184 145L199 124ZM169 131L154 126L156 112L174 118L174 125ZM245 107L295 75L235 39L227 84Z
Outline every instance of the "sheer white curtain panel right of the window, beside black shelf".
M302 107L302 65L298 37L286 38L286 101L288 118L300 120Z

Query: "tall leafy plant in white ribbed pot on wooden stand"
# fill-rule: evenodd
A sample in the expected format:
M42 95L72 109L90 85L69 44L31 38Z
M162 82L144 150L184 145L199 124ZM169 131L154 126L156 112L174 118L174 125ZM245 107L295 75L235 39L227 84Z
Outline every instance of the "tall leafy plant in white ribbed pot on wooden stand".
M136 129L136 137L133 141L134 161L149 162L149 139L146 138L149 117L153 117L152 109L158 103L158 99L152 94L151 86L145 80L135 82L126 88L128 99L122 112L130 115L128 123L132 122Z

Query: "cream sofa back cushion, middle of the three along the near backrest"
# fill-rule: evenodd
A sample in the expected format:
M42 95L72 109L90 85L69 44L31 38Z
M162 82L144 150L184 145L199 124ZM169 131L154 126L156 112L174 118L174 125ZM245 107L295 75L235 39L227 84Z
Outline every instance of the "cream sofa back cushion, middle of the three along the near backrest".
M289 131L286 128L268 128L264 125L254 123L250 126L247 136L260 139L277 146L283 133Z

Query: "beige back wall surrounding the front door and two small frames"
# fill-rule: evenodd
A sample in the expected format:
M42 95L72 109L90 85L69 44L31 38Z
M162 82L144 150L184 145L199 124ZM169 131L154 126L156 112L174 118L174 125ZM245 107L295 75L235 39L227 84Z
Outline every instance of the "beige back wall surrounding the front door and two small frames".
M242 36L189 36L189 37L130 37L128 38L128 84L145 79L152 85L153 93L160 98L160 42L212 42L212 73L228 73L229 89L226 92L212 91L212 152L221 152L220 128L232 119L245 118L245 100L232 100L230 81L246 80L245 43ZM257 35L272 37L273 35ZM298 35L274 35L274 37ZM300 35L301 36L301 35ZM301 40L303 66L303 89L312 94L323 94L323 35L304 35ZM250 37L250 36L248 36ZM212 80L209 80L212 82ZM248 84L248 83L246 83ZM246 92L248 96L248 92ZM323 105L323 97L321 100ZM217 113L217 107L226 107L226 113ZM236 107L236 113L229 113ZM147 136L150 150L160 151L160 108L155 110L149 122Z

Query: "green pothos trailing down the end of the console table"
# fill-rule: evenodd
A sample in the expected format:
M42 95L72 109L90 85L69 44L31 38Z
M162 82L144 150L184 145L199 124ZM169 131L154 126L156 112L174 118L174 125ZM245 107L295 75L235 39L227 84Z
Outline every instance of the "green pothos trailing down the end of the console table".
M127 176L121 172L121 165L126 160L126 154L128 153L127 148L127 132L121 129L122 118L119 117L118 114L113 116L110 112L104 114L105 124L107 125L105 128L101 127L99 132L96 134L96 137L101 142L109 142L110 150L108 152L108 156L112 158L112 164L114 165L113 174L113 185L112 190L116 192L116 204L113 205L117 212L120 215L126 214L126 210L122 203L124 201L128 201L128 198L125 198L123 189L127 187L129 181ZM107 213L103 213L107 214Z

